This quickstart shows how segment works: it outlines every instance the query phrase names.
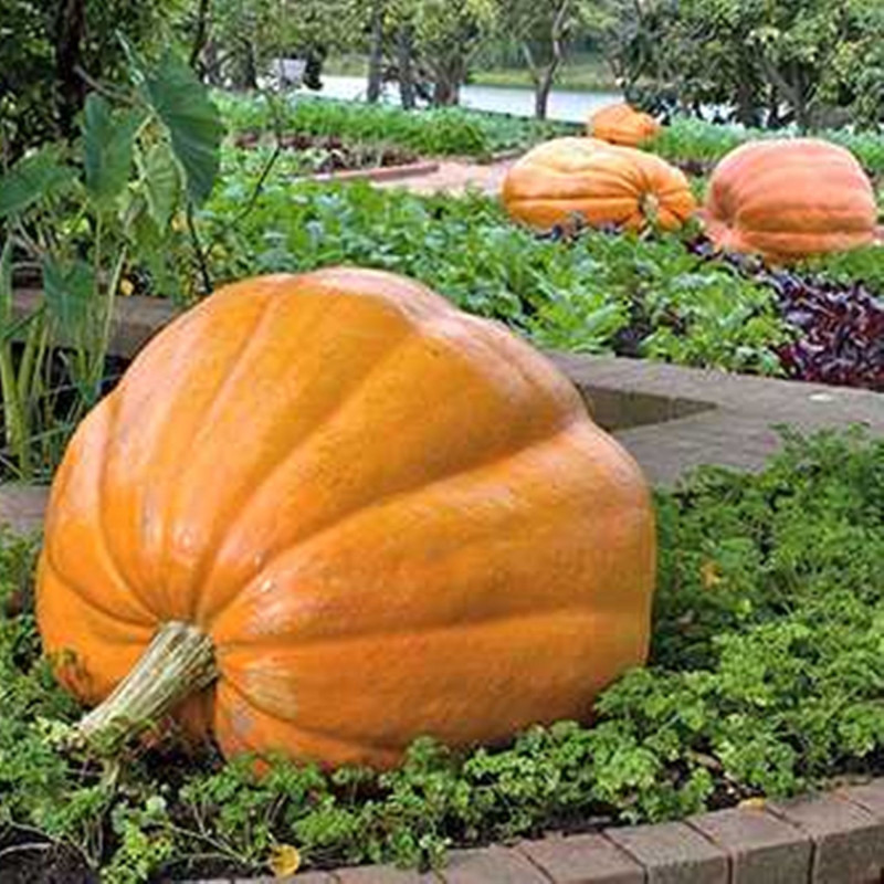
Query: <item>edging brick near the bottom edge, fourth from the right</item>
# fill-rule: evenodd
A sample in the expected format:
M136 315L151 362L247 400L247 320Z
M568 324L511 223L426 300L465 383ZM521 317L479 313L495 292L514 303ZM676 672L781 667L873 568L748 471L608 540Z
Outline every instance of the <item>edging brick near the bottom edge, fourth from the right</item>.
M682 822L607 829L645 871L648 884L728 884L727 854Z

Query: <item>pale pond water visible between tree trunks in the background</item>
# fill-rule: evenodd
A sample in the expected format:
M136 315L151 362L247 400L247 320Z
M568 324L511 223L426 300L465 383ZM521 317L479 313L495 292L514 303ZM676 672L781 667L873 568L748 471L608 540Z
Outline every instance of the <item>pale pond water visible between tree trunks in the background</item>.
M312 95L325 95L329 98L362 99L366 95L364 76L323 76L323 90ZM399 101L399 87L388 83L385 99ZM548 116L569 123L583 123L587 115L606 104L622 101L618 92L569 92L552 90L549 95ZM476 110L496 110L522 117L534 116L534 91L508 86L463 86L461 105Z

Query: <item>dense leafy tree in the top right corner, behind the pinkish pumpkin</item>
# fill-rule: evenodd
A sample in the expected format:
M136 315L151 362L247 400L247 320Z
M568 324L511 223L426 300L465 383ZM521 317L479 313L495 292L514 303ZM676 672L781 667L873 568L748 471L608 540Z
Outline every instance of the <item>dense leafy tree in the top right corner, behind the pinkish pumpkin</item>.
M608 0L606 13L632 101L802 130L882 122L882 0Z

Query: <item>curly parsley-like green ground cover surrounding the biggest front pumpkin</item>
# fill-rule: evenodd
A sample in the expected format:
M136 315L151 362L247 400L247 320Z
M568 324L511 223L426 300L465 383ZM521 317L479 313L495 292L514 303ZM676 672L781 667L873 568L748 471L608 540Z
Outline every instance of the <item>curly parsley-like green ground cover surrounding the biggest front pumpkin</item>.
M260 872L283 845L305 865L427 865L453 844L881 774L884 441L787 432L785 443L760 474L705 469L657 492L650 665L602 695L591 726L561 722L465 755L422 739L383 775L276 761L259 778L249 759L187 758L168 741L105 761L62 750L78 711L40 656L35 544L3 535L4 867L32 880L39 859L64 880L159 881Z

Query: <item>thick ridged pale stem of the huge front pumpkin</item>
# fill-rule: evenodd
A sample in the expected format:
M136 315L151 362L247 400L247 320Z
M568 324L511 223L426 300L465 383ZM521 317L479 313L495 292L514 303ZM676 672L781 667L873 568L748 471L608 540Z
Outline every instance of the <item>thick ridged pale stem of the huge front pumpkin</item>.
M164 623L113 693L81 719L76 736L112 753L217 676L211 638L191 623Z

